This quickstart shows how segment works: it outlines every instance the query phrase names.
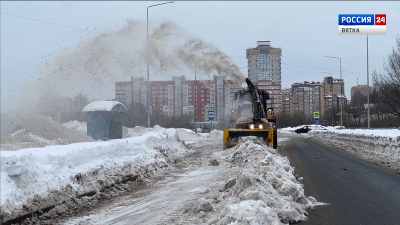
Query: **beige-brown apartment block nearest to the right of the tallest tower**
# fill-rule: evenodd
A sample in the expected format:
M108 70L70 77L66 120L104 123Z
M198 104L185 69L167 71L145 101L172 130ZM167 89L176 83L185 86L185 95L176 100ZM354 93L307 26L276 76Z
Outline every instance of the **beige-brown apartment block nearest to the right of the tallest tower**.
M285 111L312 116L312 112L319 111L321 117L324 114L323 107L324 87L319 82L297 82L291 84L289 100L285 104ZM285 98L286 99L286 98ZM287 111L287 104L289 104Z

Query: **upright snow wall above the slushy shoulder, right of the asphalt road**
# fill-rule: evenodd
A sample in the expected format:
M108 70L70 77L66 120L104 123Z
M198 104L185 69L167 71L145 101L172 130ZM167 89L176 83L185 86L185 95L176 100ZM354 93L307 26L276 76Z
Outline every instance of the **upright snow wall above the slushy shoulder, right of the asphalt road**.
M311 130L312 136L362 148L368 155L400 161L399 129L334 129Z

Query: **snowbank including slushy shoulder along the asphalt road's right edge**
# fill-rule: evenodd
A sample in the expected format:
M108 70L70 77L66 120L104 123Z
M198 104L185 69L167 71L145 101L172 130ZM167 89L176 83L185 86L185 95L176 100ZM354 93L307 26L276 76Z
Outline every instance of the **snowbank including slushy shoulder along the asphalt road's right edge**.
M311 130L308 134L400 174L399 129Z

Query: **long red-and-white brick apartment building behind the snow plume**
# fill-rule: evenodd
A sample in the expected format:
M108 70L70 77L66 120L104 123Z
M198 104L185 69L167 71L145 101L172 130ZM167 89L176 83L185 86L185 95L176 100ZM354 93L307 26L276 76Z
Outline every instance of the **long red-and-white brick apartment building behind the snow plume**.
M186 80L173 76L172 80L145 81L131 77L130 81L115 82L115 100L127 107L151 106L151 113L191 115L194 121L209 121L208 111L215 110L215 120L228 119L237 107L234 92L241 84L214 75L211 80Z

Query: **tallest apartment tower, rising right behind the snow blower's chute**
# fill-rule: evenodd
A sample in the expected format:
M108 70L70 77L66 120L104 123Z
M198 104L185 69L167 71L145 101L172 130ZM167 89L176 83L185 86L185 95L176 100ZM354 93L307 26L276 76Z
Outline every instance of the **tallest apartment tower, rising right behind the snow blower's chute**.
M274 110L282 109L282 49L271 47L271 41L257 41L257 46L246 49L248 78L273 98Z

